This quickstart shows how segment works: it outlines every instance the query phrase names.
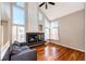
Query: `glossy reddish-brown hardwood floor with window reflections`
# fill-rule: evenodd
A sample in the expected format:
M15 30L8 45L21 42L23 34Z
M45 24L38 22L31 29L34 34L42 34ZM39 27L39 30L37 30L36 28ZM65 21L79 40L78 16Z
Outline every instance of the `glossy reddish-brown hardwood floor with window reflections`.
M62 46L48 43L46 46L38 46L37 60L38 61L84 61L85 53Z

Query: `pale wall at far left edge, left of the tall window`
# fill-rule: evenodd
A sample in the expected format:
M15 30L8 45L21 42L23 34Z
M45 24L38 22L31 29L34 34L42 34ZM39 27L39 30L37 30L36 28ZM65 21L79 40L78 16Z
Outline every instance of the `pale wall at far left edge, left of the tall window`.
M7 11L8 10L8 11ZM2 41L1 41L1 60L5 54L5 51L8 50L10 42L11 42L11 37L12 37L12 15L11 15L11 4L10 3L1 3L1 20L2 22L7 22L8 23L8 30L7 30L7 37L1 37ZM3 28L1 27L1 35L3 35ZM5 35L4 35L5 36ZM8 39L4 43L3 40Z

